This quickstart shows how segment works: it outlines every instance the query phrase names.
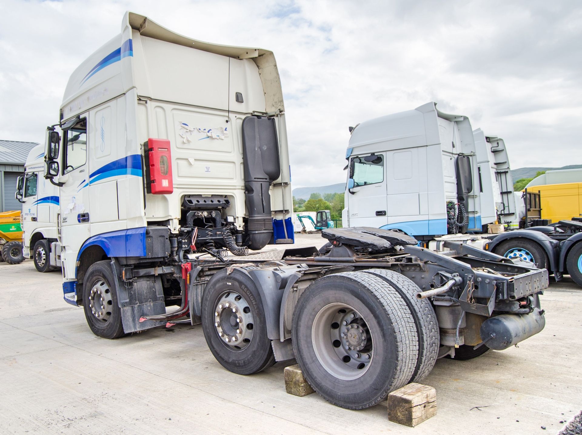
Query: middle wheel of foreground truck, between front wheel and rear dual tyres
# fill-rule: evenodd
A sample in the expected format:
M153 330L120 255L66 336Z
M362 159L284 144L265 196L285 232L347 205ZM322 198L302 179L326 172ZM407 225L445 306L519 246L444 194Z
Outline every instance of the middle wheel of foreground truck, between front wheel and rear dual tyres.
M239 375L271 367L275 355L267 336L261 295L241 270L222 269L212 276L202 296L202 330L221 365Z

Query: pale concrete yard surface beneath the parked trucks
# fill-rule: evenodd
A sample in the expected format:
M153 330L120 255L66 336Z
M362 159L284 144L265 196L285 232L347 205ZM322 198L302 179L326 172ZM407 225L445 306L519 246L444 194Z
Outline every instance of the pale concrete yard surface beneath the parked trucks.
M60 274L31 261L0 263L0 277L1 433L556 434L582 403L582 289L569 277L546 291L546 327L519 348L439 360L423 381L437 415L416 428L389 422L385 405L347 411L286 394L290 362L230 373L200 325L95 337L63 301Z

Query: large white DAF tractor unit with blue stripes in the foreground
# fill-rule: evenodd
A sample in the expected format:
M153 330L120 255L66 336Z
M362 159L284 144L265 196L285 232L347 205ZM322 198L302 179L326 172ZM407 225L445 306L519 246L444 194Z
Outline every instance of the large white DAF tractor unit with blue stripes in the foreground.
M395 231L324 229L325 252L247 255L293 242L270 51L128 12L70 77L45 159L65 300L100 337L201 322L228 370L296 358L323 397L361 409L439 356L503 350L544 327L545 270L460 244L445 256Z

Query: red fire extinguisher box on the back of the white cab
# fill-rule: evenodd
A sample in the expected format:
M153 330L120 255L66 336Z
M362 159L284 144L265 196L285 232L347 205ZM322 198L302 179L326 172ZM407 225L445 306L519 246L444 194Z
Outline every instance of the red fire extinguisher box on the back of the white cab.
M172 193L174 185L170 141L149 138L144 145L147 192L158 195Z

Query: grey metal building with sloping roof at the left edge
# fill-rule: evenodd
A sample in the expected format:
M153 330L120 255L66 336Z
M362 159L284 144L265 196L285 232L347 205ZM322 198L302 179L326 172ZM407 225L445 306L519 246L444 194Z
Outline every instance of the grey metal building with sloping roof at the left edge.
M24 172L24 163L36 142L0 140L0 212L20 210L22 205L14 197L16 179Z

